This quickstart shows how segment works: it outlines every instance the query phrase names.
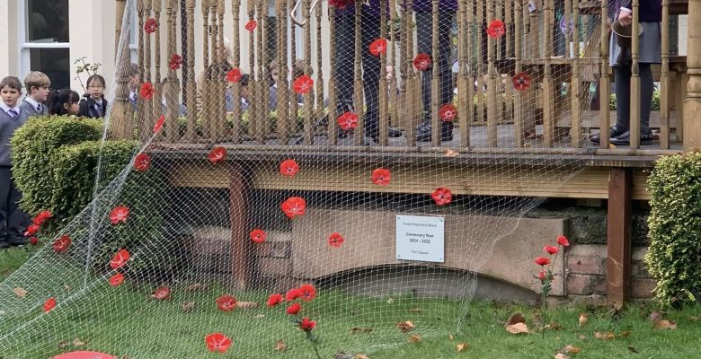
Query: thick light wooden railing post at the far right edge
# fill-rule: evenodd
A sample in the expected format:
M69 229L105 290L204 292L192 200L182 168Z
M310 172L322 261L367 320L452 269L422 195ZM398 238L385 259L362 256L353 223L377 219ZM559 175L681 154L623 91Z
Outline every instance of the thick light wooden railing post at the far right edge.
M701 147L701 0L688 0L687 97L684 100L684 150Z

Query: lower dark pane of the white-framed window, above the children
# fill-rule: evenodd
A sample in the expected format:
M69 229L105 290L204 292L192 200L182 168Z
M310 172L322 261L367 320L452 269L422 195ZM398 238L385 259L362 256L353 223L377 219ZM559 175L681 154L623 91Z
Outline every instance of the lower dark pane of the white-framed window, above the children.
M31 71L41 71L49 76L52 89L70 87L71 66L68 48L30 48L30 61Z

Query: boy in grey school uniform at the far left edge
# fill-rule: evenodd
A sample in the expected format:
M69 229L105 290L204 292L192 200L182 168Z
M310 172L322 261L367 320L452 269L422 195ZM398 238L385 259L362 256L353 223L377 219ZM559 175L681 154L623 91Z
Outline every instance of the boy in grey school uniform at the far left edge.
M29 112L20 107L20 96L20 79L7 76L0 81L0 249L27 242L22 228L27 217L19 207L22 193L14 185L10 149L14 131L29 117Z

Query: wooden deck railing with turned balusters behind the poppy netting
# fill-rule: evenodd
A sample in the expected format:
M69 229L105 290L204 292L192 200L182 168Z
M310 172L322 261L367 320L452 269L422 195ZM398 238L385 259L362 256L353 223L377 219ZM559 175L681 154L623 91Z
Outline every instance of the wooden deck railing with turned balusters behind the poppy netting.
M357 111L359 120L354 134L349 139L339 138L336 118L342 115L342 99L338 96L340 74L335 66L339 56L338 10L327 2L275 0L275 15L269 16L268 6L262 0L187 0L184 8L177 0L135 1L138 76L141 83L154 84L154 98L149 101L139 97L136 107L129 103L129 48L121 46L111 136L145 140L157 118L164 115L164 130L157 141L167 143L217 142L260 147L360 145L365 141L363 122L367 118L362 111ZM662 1L662 63L659 71L655 69L655 73L659 72L656 81L660 83L661 104L659 114L652 117L652 126L659 127L659 142L643 149L681 149L683 144L688 150L701 144L700 2L689 0L687 7L685 2ZM342 45L353 52L353 108L363 109L367 107L363 52L368 48L363 44L360 14L368 11L364 8L368 5L358 1L349 6L355 9L355 40ZM439 38L441 6L442 0L432 0L432 39ZM609 148L608 136L602 136L596 145L588 140L590 133L600 128L606 132L613 123L608 103L610 84L616 79L608 66L607 16L601 16L611 11L607 0L564 0L563 4L559 0L457 0L457 31L452 47L457 54L458 122L456 138L448 144L441 141L439 66L432 66L430 72L423 74L430 75L431 141L416 140L416 126L424 109L421 72L413 66L418 41L414 38L412 0L379 0L377 7L386 9L379 11L377 26L379 36L388 43L386 53L379 57L380 69L392 66L392 76L380 75L377 82L377 143L389 147L387 151L417 145L479 147L501 152L528 152L537 147L569 151ZM637 18L638 0L633 1L633 8ZM555 29L557 13L561 15L558 27L563 32L560 39ZM688 38L681 39L688 41L687 57L670 57L670 13L689 14ZM157 22L153 33L144 27L152 18ZM178 22L181 19L185 22ZM504 23L505 33L498 38L486 35L495 19ZM196 22L201 22L201 29ZM255 28L247 31L247 22L255 22ZM181 27L179 23L187 25ZM388 26L380 26L387 23ZM637 27L634 22L634 33ZM268 41L273 41L274 46ZM556 41L564 43L564 50L556 47ZM438 41L433 42L432 53L439 53ZM301 54L303 74L310 74L315 80L314 90L306 92L301 100L293 91L295 78L290 73L296 54ZM635 38L631 79L634 95L630 101L633 133L640 128L638 54ZM182 57L185 71L169 66L173 55ZM277 105L271 110L269 64L273 59L278 63L279 80ZM226 80L231 68L249 75L247 86ZM532 78L532 83L523 89L512 85L512 77L520 73ZM594 99L590 89L594 87L598 88L600 110L591 109ZM240 101L244 92L249 93L247 108ZM164 106L160 105L161 99ZM675 116L670 116L672 108ZM404 129L404 137L389 138L390 127ZM630 149L634 152L639 148L637 136L632 136Z

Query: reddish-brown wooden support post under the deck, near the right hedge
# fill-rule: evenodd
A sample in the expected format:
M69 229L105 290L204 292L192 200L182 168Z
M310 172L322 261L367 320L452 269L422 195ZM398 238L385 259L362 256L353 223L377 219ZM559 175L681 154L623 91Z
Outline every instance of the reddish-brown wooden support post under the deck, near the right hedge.
M632 171L608 172L607 302L620 308L630 297Z

